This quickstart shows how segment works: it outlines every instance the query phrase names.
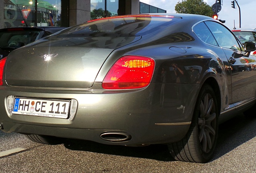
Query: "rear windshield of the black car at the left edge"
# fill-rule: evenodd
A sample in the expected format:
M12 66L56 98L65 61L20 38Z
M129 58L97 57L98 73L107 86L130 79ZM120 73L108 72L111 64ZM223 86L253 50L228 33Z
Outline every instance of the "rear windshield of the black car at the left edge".
M39 31L0 32L0 48L19 48L38 40Z

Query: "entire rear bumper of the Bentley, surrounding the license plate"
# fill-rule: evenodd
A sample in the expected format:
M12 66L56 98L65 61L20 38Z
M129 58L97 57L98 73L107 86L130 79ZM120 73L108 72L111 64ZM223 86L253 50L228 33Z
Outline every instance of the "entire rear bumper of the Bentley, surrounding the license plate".
M84 139L112 145L170 143L180 141L188 132L195 103L197 85L190 85L186 109L172 87L161 93L161 84L132 91L37 89L0 87L0 123L2 131ZM7 89L8 88L8 89ZM74 119L30 115L10 115L6 108L9 95L48 99L76 99ZM163 104L164 103L164 104ZM114 139L114 140L109 140Z

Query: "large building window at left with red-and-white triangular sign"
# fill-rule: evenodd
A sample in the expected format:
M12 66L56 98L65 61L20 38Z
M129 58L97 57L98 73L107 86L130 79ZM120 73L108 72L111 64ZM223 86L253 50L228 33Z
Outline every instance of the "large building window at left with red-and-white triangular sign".
M61 0L4 0L4 28L61 26Z

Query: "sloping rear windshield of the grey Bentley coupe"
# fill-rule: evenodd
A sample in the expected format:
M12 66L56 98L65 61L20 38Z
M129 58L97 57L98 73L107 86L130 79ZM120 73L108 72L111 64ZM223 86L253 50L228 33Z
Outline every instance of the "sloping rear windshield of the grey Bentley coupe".
M82 36L83 34L118 34L124 36L138 36L155 32L180 20L175 17L124 17L93 20L65 30L69 36Z

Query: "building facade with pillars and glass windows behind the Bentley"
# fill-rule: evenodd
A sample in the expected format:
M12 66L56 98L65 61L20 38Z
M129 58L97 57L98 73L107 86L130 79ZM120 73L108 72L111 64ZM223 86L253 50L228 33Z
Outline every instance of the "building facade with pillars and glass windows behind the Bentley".
M139 0L3 0L0 28L74 26L91 19L166 10Z

